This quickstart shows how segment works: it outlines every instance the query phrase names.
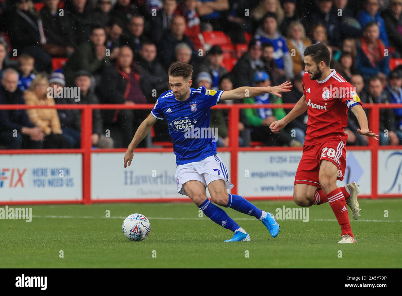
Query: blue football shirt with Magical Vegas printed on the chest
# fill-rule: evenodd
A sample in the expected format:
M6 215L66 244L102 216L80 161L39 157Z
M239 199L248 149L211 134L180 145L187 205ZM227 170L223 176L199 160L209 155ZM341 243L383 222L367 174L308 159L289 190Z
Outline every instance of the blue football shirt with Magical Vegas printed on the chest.
M223 91L205 87L190 91L185 101L176 100L173 91L165 91L151 111L155 118L168 121L178 166L216 154L216 141L209 137L210 108L219 103Z

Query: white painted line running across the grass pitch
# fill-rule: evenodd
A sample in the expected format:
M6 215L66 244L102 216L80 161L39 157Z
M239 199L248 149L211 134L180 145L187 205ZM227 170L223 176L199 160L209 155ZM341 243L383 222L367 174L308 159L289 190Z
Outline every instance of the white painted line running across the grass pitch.
M117 216L117 217L92 217L92 216L37 216L32 215L33 218L60 218L60 219L125 219L126 217ZM203 218L187 218L187 217L149 217L150 220L202 220ZM233 218L234 220L255 220L255 218ZM302 221L303 219L277 219L279 221ZM310 221L338 221L336 219L312 219ZM402 220L356 220L353 222L402 222Z

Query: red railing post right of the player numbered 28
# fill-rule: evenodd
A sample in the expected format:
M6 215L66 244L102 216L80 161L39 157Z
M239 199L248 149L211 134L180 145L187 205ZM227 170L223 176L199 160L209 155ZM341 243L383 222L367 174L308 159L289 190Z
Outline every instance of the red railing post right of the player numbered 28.
M369 128L379 135L380 132L384 132L384 130L379 130L379 107L375 105L372 107L369 116ZM378 199L378 148L379 141L371 138L371 196L373 199Z

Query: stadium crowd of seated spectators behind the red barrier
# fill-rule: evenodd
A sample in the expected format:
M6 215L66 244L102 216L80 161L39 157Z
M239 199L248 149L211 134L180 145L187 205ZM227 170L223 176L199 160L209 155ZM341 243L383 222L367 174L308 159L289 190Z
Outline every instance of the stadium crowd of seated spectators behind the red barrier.
M363 107L401 104L381 109L379 129L381 145L402 144L402 66L395 64L402 58L402 0L3 0L0 105L155 103L169 89L174 61L193 66L195 88L293 83L281 98L229 103L296 103L303 95L303 52L317 42L328 45L331 68L356 88ZM303 145L307 114L279 134L269 130L289 111L242 110L240 145ZM127 147L148 114L94 110L93 147ZM218 147L229 145L227 116L211 110ZM351 114L348 145L367 145L358 127ZM142 147L166 139L160 121ZM80 111L0 110L0 147L78 148Z

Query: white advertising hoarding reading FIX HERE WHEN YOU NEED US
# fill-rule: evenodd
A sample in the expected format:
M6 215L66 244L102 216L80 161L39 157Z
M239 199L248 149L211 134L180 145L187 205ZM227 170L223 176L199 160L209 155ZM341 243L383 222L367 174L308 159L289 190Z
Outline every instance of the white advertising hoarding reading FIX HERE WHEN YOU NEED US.
M82 155L0 155L0 201L82 199Z

